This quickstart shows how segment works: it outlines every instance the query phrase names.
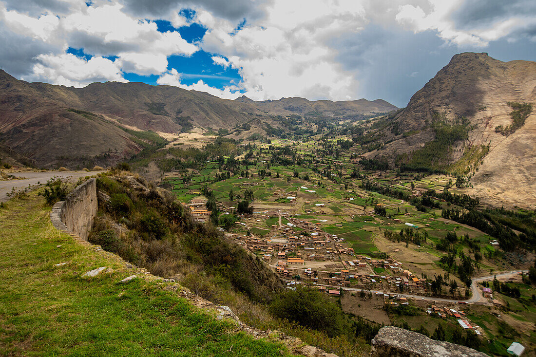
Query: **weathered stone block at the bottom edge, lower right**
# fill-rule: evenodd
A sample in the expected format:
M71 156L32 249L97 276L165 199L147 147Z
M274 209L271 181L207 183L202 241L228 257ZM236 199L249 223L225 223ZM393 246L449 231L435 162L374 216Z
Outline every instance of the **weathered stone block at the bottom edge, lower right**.
M436 341L393 326L381 328L372 340L374 357L487 357L472 348Z

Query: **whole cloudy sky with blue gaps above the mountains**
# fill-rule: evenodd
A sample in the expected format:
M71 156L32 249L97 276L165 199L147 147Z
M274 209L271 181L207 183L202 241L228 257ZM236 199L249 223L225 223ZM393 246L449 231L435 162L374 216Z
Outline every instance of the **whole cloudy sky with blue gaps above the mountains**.
M536 61L534 0L0 0L0 68L398 107L450 58Z

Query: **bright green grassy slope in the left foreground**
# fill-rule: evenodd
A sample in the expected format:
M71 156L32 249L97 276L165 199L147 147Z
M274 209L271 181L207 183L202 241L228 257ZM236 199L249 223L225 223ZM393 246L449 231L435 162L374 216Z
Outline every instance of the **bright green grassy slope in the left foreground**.
M30 194L0 209L0 354L289 355L58 232ZM55 264L66 263L61 266ZM100 266L113 269L94 278Z

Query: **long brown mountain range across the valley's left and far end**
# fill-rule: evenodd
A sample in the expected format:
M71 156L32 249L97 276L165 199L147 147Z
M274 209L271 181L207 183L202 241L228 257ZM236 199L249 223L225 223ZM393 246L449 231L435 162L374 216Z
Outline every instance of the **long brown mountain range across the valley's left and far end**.
M0 70L0 144L39 167L109 165L147 144L137 131L177 133L233 129L248 123L266 135L273 115L359 117L385 113L382 100L348 102L285 98L255 102L144 83L92 83L84 88L27 83ZM262 119L262 120L261 120ZM0 153L1 154L1 153ZM0 156L0 159L2 157Z

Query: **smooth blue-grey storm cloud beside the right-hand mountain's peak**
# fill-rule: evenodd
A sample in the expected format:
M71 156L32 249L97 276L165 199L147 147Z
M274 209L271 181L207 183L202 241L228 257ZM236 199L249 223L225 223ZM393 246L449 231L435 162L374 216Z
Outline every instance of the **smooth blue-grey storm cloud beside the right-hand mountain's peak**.
M414 34L377 24L369 24L359 36L341 36L334 48L344 69L357 73L356 98L381 98L397 107L406 106L457 53L433 31Z

